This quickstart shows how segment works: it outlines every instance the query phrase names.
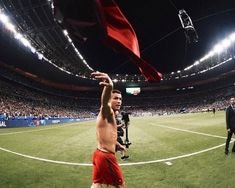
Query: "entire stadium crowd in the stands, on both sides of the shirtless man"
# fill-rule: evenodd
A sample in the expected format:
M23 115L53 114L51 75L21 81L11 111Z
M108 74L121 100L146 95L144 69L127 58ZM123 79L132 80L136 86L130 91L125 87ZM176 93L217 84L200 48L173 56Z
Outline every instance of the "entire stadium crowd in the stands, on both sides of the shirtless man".
M99 111L99 92L84 92L66 97L4 79L0 80L0 87L0 115L6 118L94 118ZM131 112L133 116L202 112L213 108L224 110L228 105L228 97L234 92L235 87L230 86L216 90L173 92L168 95L157 92L143 92L139 96L124 94L123 110Z

